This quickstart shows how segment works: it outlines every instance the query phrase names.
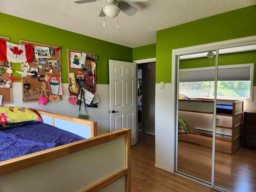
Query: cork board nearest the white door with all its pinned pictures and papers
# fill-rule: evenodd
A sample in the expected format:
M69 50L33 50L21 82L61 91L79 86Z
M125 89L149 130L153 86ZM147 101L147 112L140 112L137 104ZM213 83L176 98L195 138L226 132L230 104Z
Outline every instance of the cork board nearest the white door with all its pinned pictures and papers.
M75 63L78 63L77 59L79 60L79 65L74 67L74 65L76 65ZM83 93L86 94L84 95L85 99L87 100L87 96L89 95L91 98L86 102L87 107L98 107L99 98L98 94L96 93L96 61L96 54L94 53L87 53L83 51L68 49L68 72L70 84L69 100L71 104L73 104L74 99L80 100L80 93L81 90L83 90Z

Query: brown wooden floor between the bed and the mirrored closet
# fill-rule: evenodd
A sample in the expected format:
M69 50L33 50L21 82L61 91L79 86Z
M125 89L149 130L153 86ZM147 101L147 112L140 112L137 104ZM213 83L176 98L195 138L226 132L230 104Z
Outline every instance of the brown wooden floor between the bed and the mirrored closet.
M155 136L138 134L139 143L132 146L132 191L217 191L195 181L155 167Z

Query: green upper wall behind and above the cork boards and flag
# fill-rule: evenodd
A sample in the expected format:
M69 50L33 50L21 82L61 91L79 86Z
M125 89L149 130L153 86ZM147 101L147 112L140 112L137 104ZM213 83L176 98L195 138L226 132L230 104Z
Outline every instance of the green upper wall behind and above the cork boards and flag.
M0 26L0 36L9 37L10 42L14 44L19 44L19 40L22 39L61 47L62 82L65 83L68 82L67 49L97 54L96 75L98 84L109 83L109 59L130 62L133 60L132 48L4 13L0 13ZM12 63L12 66L14 71L20 70L20 63ZM20 78L16 72L12 76Z

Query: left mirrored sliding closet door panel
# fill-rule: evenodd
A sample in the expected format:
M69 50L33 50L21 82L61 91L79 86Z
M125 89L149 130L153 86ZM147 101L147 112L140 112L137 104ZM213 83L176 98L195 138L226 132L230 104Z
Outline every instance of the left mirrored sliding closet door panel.
M179 57L176 171L211 183L216 51Z

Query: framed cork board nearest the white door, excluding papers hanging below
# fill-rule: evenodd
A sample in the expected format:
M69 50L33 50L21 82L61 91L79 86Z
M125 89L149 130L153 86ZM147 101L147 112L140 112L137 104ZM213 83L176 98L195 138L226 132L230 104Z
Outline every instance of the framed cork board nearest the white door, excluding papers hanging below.
M74 73L76 82L79 84L80 89L83 88L93 94L96 93L96 54L68 49L67 55L69 85L72 85L70 74ZM70 96L78 95L70 92ZM97 108L97 104L93 103L87 106Z

